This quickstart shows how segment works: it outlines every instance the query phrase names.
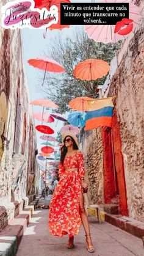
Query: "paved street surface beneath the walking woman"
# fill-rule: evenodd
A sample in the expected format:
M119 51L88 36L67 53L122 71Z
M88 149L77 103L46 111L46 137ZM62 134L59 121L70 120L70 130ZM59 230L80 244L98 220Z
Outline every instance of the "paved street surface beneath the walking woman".
M40 200L40 205L48 204L48 200ZM55 255L89 255L86 251L84 229L74 240L74 249L67 249L68 236L58 238L49 235L47 209L35 210L24 233L17 256L55 256ZM142 240L124 232L107 222L99 224L95 217L89 216L90 230L98 256L143 256Z

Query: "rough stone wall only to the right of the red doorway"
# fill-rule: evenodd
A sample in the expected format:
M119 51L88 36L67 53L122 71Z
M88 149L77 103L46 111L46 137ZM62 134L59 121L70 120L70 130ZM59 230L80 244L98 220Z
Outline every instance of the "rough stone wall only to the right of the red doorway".
M115 109L120 125L129 215L144 221L143 25L127 43L123 43L118 54L119 65L107 96L117 96Z

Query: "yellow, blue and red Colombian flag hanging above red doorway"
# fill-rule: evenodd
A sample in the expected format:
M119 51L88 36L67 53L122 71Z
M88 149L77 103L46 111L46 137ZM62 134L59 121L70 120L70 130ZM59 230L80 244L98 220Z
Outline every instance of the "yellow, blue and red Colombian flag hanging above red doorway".
M88 101L90 108L85 115L85 130L92 130L101 126L112 127L113 97Z

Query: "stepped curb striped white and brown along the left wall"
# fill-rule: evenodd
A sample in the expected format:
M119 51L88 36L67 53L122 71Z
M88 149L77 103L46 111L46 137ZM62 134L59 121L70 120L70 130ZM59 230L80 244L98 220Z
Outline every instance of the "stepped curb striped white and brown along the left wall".
M16 218L12 219L9 224L0 232L0 256L15 256L20 245L21 238L26 230L29 220L34 214L35 205L38 199L34 200L21 211Z

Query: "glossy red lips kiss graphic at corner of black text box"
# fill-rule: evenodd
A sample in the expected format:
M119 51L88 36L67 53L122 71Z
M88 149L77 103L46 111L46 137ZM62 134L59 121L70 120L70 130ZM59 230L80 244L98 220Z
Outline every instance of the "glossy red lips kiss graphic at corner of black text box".
M118 21L115 25L114 33L118 35L128 35L133 28L133 20L123 18L121 21Z

